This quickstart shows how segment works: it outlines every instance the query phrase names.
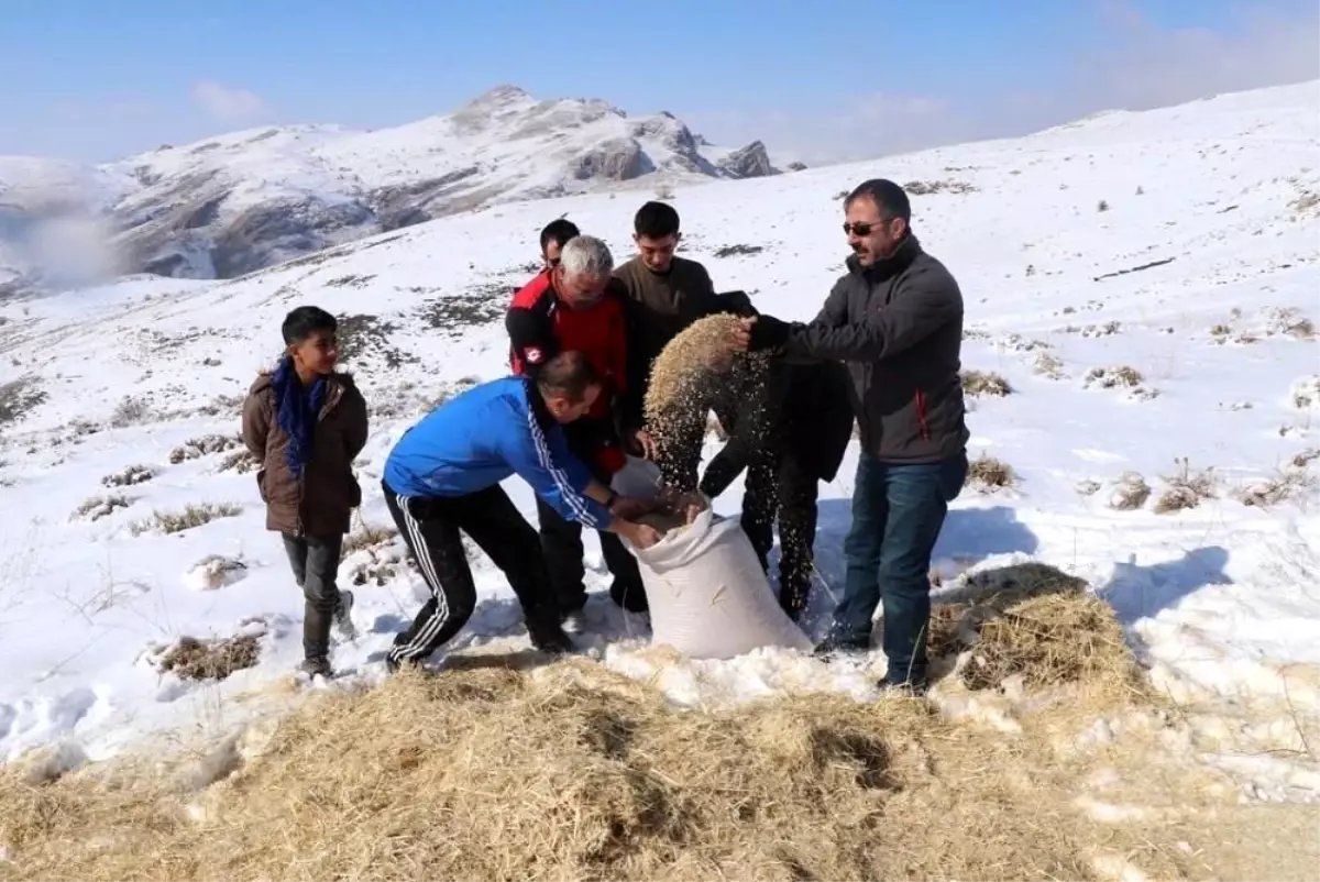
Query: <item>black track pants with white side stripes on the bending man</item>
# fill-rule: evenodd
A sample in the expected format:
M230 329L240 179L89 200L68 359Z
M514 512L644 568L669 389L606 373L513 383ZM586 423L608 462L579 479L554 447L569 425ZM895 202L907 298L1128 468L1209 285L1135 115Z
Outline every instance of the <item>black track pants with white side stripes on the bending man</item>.
M552 607L550 577L536 528L499 485L466 496L401 496L381 482L385 504L417 561L430 599L395 638L395 663L420 662L454 638L477 606L477 586L459 531L504 573L524 615Z

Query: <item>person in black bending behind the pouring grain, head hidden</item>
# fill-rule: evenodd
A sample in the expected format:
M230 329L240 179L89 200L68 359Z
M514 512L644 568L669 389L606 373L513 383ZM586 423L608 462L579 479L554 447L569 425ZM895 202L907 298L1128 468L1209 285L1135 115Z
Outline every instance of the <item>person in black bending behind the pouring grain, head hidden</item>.
M771 359L764 382L731 390L733 430L701 477L714 499L746 469L742 527L768 572L779 522L779 605L793 621L810 594L820 482L853 434L849 383L840 362Z

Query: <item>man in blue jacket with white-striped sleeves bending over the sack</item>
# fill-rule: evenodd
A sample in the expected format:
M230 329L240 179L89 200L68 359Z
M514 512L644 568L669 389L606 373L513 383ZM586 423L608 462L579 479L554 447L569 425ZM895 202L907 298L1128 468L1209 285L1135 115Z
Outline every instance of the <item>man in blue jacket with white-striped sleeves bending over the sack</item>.
M391 450L381 482L385 504L432 593L412 627L395 639L385 659L391 671L453 639L477 606L459 532L508 578L532 644L548 652L573 648L537 532L500 487L510 475L527 481L565 519L615 532L638 548L660 539L622 516L643 514L645 503L620 499L569 453L561 424L583 416L599 392L590 362L577 351L561 353L535 380L508 376L450 399Z

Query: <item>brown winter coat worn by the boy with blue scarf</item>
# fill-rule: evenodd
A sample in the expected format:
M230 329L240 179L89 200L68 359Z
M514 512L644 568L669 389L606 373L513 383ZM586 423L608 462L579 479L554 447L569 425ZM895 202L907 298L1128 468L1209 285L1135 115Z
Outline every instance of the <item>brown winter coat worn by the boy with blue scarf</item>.
M243 444L260 463L256 481L265 502L265 527L296 536L348 532L362 487L352 461L367 444L367 403L347 374L331 374L302 479L289 469L289 436L276 420L271 375L261 374L243 403Z

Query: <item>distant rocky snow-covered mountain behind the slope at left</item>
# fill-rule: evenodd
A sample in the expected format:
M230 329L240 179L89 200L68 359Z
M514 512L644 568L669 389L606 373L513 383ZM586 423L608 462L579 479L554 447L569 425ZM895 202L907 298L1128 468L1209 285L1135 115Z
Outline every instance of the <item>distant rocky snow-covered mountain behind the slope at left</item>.
M67 284L63 263L88 244L110 268L231 279L512 199L776 173L760 141L717 148L671 114L539 100L513 86L371 132L261 128L99 168L0 157L0 292ZM67 235L74 223L86 231L78 247L46 244L51 224Z

